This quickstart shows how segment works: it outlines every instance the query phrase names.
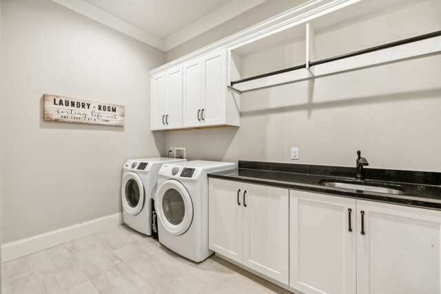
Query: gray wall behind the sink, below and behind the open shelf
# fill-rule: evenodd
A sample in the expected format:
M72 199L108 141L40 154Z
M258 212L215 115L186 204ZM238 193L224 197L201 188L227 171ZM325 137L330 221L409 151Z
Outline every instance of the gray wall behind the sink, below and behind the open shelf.
M333 50L345 45L343 52L351 52L351 46L369 43L359 32L374 31L387 41L395 34L400 39L441 25L439 9L425 3L400 9L385 17L375 15L372 21L364 18L360 23L326 28L316 37L316 55L333 56ZM217 30L207 34L215 35ZM357 35L360 39L348 37ZM188 47L203 45L204 40L194 39L173 54L184 55ZM247 56L243 74L262 73L258 70L283 62L288 65L296 54L294 47L287 44L268 50L263 52L269 52L266 57ZM239 128L167 132L167 146L187 147L189 160L353 167L360 149L369 168L441 171L440 65L438 55L242 94ZM300 148L299 160L290 159L291 147Z

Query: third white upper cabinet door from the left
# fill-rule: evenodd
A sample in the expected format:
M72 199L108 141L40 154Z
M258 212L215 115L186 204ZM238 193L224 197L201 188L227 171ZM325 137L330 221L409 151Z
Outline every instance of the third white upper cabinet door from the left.
M201 62L199 59L189 61L183 65L184 75L184 127L200 127L201 126Z

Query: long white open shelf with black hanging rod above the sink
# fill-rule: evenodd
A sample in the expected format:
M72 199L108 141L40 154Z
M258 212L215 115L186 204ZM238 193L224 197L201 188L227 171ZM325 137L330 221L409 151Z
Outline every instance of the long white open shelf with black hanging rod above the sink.
M345 3L227 48L228 87L249 92L441 53L439 0ZM409 13L421 25L405 21Z

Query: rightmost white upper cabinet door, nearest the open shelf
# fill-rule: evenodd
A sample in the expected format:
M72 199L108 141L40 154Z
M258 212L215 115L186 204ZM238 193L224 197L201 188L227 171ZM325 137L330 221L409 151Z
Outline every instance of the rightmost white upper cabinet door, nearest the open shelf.
M225 98L227 94L227 74L225 50L218 50L203 56L203 125L225 123Z

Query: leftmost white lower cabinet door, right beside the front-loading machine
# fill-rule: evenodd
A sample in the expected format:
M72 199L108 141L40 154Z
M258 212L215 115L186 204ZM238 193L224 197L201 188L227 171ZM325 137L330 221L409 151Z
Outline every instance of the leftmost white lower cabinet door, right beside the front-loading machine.
M236 262L242 262L241 182L209 179L208 246Z

